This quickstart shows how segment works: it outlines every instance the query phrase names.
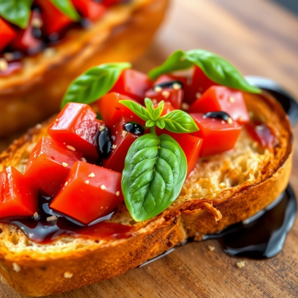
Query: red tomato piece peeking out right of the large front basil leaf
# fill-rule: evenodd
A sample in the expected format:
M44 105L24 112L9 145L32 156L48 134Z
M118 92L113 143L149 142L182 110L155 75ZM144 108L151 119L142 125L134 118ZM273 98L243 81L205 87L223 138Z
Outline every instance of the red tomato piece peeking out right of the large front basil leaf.
M171 136L182 148L187 159L187 175L195 168L200 157L203 139L191 136L190 134L174 134L166 132Z

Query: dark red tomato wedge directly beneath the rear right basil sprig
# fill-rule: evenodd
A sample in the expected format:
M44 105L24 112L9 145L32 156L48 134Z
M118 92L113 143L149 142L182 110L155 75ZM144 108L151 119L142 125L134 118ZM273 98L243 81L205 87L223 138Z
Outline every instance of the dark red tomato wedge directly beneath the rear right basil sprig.
M194 73L188 89L188 94L185 96L185 102L192 104L197 98L200 97L211 86L218 85L207 77L204 72L199 68L194 68Z

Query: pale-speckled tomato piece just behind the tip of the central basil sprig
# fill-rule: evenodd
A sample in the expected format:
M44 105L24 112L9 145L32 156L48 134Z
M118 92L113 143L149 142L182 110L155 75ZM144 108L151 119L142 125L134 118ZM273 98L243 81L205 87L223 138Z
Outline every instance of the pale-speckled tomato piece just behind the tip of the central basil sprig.
M183 89L173 89L173 88L162 88L162 90L157 90L157 88L152 88L146 91L145 97L149 97L152 100L168 101L171 105L179 110L183 101L184 91Z

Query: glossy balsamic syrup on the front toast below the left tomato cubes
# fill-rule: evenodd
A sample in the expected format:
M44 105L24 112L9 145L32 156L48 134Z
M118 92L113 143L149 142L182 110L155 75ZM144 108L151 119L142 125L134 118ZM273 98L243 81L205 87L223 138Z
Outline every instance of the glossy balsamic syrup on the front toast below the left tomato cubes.
M112 217L113 212L97 219L91 224L80 224L51 210L49 207L51 200L51 197L40 193L38 199L38 217L6 219L1 222L20 228L30 240L42 244L51 243L63 235L95 241L101 239L123 239L129 237L134 231L134 227L132 226L104 222ZM57 220L47 221L47 218L51 216L56 216Z

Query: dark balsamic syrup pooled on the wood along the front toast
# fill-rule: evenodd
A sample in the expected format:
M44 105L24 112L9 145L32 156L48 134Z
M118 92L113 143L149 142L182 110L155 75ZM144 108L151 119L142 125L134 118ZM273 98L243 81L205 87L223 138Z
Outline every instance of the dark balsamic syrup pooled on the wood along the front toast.
M232 224L218 234L205 235L203 240L217 239L226 254L232 257L264 260L276 256L285 244L288 232L297 216L296 196L288 185L287 189L266 209L253 217ZM156 261L180 246L194 242L188 238L178 246L148 260L139 267Z

